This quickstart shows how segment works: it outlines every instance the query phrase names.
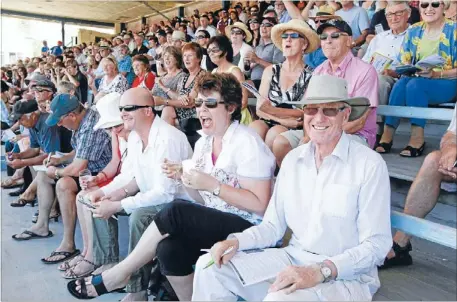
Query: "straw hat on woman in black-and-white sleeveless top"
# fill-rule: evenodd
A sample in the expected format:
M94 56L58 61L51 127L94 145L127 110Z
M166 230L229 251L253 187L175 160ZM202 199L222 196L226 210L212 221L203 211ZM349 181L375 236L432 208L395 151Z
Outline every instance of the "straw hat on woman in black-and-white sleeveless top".
M305 50L305 53L310 53L315 51L321 45L319 36L316 32L306 23L305 21L292 19L287 23L282 23L273 26L271 30L271 40L273 44L282 51L282 37L281 35L288 30L293 30L298 32L300 35L304 36L308 40L308 47Z

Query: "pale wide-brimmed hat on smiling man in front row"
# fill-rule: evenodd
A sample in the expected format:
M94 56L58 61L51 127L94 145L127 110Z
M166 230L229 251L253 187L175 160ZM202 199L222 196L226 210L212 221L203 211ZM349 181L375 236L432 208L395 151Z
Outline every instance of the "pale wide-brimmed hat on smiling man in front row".
M331 75L316 75L309 81L305 97L300 102L286 102L296 107L305 107L312 104L328 104L344 102L351 106L349 121L360 118L370 106L370 101L365 97L348 95L348 82L345 79Z

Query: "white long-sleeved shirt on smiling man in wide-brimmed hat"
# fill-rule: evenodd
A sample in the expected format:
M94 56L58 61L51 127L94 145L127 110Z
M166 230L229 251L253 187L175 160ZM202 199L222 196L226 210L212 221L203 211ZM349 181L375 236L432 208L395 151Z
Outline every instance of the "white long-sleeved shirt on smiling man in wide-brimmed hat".
M289 152L262 223L234 236L240 250L272 247L289 227L294 265L329 259L339 280L357 280L373 295L376 265L392 246L386 163L344 133L319 171L314 153L313 143Z

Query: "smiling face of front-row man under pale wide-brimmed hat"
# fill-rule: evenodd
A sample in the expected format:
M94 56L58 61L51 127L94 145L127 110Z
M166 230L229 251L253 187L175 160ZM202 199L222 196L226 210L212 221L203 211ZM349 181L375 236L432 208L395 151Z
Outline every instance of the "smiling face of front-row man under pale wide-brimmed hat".
M351 113L350 108L342 102L308 105L303 111L304 129L318 145L338 142L343 124L348 121Z

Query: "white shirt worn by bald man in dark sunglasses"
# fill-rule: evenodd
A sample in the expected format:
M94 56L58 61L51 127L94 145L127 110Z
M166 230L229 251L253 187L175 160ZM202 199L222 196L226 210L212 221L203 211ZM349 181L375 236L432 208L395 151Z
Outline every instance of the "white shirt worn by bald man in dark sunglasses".
M161 168L165 158L181 162L192 156L192 149L183 132L156 116L144 151L143 142L134 131L129 135L127 148L125 163L131 167L102 188L106 194L123 188L135 178L140 192L121 201L125 212L131 213L135 209L171 202L176 198L191 200L183 186L169 179Z

